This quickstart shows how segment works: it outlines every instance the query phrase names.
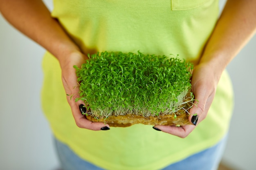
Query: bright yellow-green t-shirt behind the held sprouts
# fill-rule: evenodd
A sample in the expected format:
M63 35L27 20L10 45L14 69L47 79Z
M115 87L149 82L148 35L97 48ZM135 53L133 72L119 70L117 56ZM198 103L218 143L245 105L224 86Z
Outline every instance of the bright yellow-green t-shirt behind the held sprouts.
M141 51L196 61L218 19L218 0L54 0L52 16L85 54ZM54 135L79 157L104 169L164 168L213 146L229 128L233 91L226 71L207 118L185 139L142 124L108 131L78 128L60 66L50 53L43 58L43 71L43 110Z

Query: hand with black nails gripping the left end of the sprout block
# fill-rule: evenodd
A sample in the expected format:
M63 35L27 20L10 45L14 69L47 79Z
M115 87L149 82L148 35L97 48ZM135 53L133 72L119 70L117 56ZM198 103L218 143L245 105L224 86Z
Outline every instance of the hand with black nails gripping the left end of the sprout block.
M83 101L75 102L79 96L79 84L77 83L76 70L74 65L81 67L81 64L87 60L88 57L79 51L72 52L67 57L59 57L59 62L62 70L62 82L67 94L67 102L69 103L76 125L79 128L86 128L90 130L109 130L109 125L103 122L92 122L81 114L82 110L86 110ZM71 95L71 96L70 96Z

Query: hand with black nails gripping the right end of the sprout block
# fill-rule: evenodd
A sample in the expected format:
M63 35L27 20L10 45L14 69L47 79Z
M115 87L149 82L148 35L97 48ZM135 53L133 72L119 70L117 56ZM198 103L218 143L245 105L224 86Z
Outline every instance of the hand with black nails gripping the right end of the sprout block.
M195 95L195 103L189 110L189 121L191 125L186 126L162 126L155 128L178 137L187 137L205 117L213 101L219 76L213 73L212 68L207 64L195 66L192 75L192 92Z

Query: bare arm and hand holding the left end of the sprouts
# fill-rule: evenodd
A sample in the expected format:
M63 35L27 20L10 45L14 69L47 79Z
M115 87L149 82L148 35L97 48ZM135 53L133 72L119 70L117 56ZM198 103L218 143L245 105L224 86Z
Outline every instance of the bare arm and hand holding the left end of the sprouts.
M83 102L74 102L76 96L79 96L79 87L73 66L81 65L88 58L81 53L79 47L69 38L58 21L51 17L42 0L0 0L0 11L19 31L58 59L65 91L67 94L74 95L72 99L67 97L67 101L77 126L91 130L101 130L102 127L108 126L103 122L94 123L85 119L79 110L79 105Z

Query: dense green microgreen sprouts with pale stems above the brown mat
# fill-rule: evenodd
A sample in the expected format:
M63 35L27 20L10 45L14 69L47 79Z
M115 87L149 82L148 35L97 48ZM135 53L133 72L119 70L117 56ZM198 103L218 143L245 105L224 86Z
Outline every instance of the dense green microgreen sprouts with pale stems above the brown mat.
M144 117L188 113L193 64L176 57L101 52L76 68L80 98L96 118L135 114ZM189 94L189 95L188 95ZM189 105L189 107L184 107Z

